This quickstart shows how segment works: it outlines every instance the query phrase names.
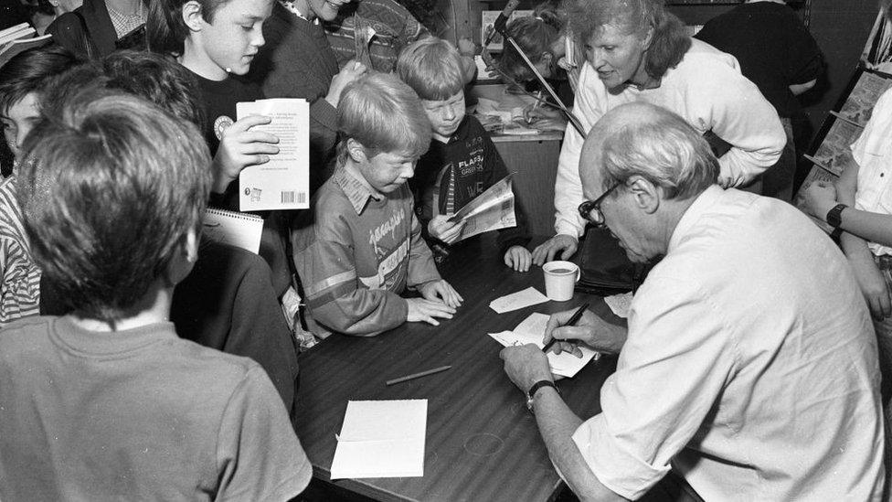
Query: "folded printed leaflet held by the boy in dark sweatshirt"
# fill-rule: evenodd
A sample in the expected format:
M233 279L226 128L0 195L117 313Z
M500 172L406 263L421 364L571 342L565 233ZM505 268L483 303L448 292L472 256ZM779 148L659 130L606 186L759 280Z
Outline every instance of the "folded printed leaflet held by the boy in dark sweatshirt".
M490 230L507 229L517 225L515 219L515 194L511 189L511 176L504 176L492 187L464 205L449 219L464 221L459 240L465 240Z

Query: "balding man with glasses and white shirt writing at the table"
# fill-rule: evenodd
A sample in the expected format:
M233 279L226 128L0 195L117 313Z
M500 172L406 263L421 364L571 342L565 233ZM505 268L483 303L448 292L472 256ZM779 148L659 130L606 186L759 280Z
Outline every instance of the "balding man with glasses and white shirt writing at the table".
M633 262L662 260L628 329L591 312L549 321L560 350L619 353L599 414L568 409L535 346L505 348L505 372L584 500L642 497L670 470L706 500L877 499L876 341L844 256L795 208L719 187L718 171L673 112L607 112L582 149L579 210Z

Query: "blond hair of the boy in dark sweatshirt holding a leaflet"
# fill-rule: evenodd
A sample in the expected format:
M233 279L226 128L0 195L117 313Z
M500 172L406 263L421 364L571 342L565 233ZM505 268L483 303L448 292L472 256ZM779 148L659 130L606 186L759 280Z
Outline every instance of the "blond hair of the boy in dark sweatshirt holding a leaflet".
M422 100L448 100L464 89L462 55L438 37L422 38L403 49L397 74Z

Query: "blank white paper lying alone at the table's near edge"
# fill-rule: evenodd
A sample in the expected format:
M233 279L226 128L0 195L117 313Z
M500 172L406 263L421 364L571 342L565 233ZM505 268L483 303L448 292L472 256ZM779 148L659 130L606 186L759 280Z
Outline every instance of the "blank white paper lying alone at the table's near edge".
M428 400L348 401L332 479L424 475Z

